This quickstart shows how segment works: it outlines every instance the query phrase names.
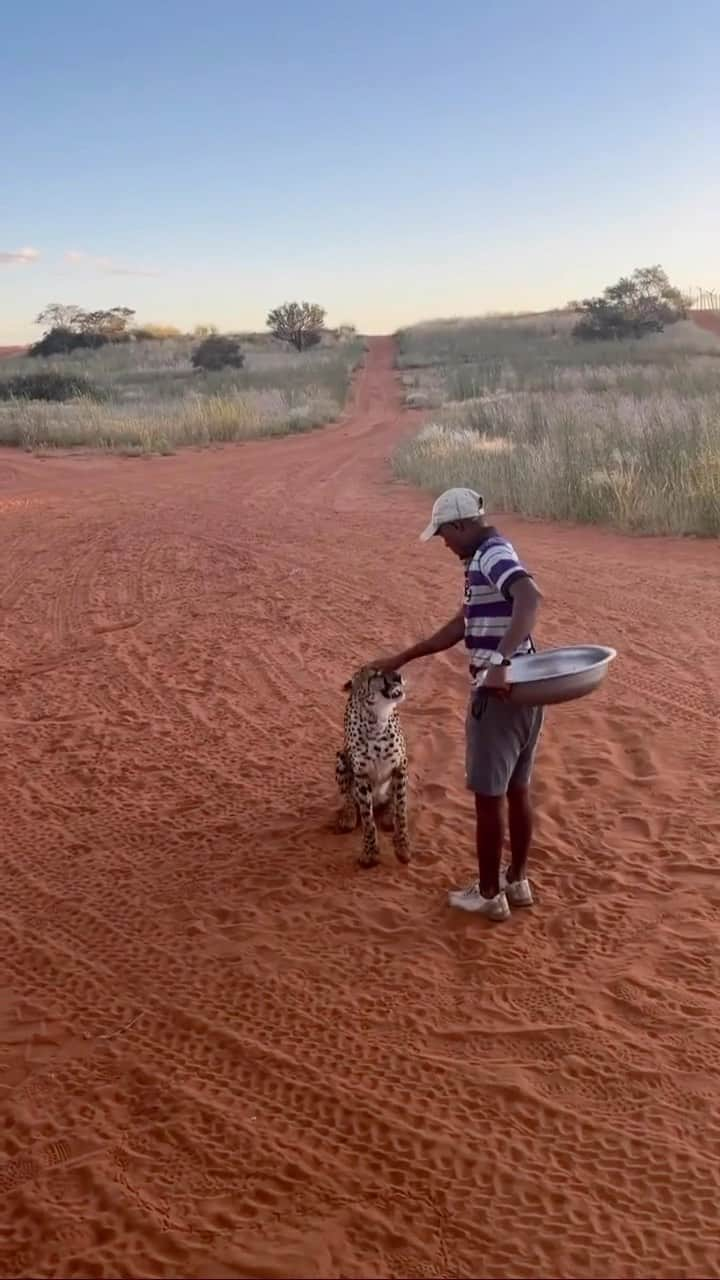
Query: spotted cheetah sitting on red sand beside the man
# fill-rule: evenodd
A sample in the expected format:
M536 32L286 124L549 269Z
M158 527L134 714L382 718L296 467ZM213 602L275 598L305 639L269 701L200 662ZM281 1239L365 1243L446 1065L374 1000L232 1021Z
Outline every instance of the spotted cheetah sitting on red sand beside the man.
M397 714L405 681L396 671L361 667L343 689L350 696L345 709L345 746L337 753L336 764L342 796L338 829L355 831L360 818L360 867L375 867L379 846L374 810L384 809L382 826L392 829L395 855L400 863L409 863L407 749Z

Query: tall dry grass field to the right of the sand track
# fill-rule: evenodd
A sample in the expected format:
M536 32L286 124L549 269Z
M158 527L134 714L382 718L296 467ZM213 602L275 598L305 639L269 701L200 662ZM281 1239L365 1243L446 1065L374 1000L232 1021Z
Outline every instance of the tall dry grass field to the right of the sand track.
M424 325L401 335L401 365L413 366L410 396L441 406L397 451L402 479L468 484L529 516L720 534L712 334L680 324L588 348L546 317Z

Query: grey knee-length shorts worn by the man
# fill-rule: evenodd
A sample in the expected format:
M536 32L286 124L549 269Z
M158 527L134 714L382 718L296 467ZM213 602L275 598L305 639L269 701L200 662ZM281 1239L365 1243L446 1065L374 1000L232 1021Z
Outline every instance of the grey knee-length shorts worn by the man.
M514 707L492 694L475 694L465 722L465 780L480 796L527 787L543 722L542 707Z

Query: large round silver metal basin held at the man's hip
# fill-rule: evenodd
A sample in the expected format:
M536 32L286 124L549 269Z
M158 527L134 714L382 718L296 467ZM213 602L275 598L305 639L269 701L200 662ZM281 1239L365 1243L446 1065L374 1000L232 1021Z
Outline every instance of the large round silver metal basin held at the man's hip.
M616 657L615 649L588 644L574 649L543 649L527 658L514 658L510 701L524 707L548 707L585 698L602 685Z

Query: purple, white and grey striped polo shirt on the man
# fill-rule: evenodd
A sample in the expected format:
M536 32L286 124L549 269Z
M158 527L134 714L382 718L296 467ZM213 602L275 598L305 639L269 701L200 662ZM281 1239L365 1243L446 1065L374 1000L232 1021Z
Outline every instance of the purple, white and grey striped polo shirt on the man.
M530 577L518 553L497 529L488 529L487 538L475 554L465 561L465 648L474 676L482 663L474 655L497 649L512 618L510 586L521 577ZM514 657L532 653L530 637L518 645Z

